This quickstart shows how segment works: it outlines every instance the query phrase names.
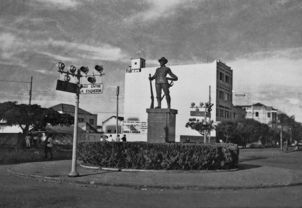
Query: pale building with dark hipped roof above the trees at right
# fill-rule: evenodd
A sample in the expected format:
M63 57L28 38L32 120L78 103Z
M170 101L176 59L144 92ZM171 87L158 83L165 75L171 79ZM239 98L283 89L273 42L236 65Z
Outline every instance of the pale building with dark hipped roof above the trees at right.
M260 123L266 124L275 122L277 120L278 109L274 109L273 107L265 106L261 103L244 105L240 107L246 111L245 118L252 118Z

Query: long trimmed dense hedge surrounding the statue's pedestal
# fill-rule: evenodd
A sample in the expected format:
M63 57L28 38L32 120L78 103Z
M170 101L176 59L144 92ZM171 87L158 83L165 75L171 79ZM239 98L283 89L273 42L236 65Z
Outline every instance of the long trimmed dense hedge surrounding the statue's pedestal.
M151 170L226 170L236 168L235 144L82 142L78 159L111 168Z

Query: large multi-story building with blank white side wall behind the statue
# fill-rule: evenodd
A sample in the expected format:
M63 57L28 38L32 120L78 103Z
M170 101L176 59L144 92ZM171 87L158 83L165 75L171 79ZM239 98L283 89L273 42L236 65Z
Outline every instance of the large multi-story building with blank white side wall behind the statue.
M145 66L145 60L141 58L131 59L131 64L139 63ZM171 109L178 110L176 115L175 141L182 142L186 136L201 135L190 128L186 128L191 103L199 104L209 101L209 86L211 86L211 103L214 104L211 111L211 120L214 122L222 119L233 119L237 115L236 108L232 105L232 81L233 70L219 60L208 64L193 64L169 66L173 74L178 77L174 85L170 88ZM159 67L159 65L158 65ZM158 67L137 69L137 66L129 67L125 73L125 99L124 99L124 120L127 121L147 121L146 109L150 108L151 92L149 74L154 75ZM135 70L132 70L135 69ZM131 73L130 73L131 72ZM135 72L135 73L133 73ZM169 76L169 75L168 75ZM155 80L152 81L154 106L157 106ZM163 95L163 92L162 92ZM196 106L196 105L195 105ZM165 98L162 100L162 108L167 108ZM204 111L204 108L200 108ZM204 117L196 117L202 120ZM215 137L215 131L211 132ZM147 141L147 135L129 134L127 141ZM203 141L203 140L202 140Z

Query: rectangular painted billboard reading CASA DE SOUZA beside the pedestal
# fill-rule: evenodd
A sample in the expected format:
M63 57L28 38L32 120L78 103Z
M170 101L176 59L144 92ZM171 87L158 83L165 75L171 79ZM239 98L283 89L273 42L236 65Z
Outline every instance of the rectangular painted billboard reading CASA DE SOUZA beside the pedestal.
M122 121L122 133L147 134L148 124L144 121Z

